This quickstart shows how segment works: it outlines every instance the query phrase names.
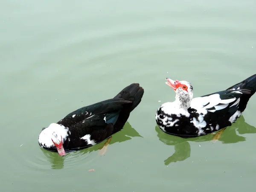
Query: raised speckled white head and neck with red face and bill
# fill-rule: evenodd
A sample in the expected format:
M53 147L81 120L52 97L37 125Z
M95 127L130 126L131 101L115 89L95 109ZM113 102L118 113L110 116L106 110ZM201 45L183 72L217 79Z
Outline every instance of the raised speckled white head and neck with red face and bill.
M175 102L180 105L180 108L188 109L193 98L193 86L188 81L173 81L168 78L166 80L168 81L166 84L175 90Z

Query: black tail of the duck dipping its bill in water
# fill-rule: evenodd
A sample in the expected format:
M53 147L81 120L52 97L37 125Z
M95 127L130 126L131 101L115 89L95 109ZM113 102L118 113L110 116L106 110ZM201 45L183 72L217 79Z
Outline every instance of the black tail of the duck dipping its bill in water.
M126 101L131 101L132 105L130 108L130 112L136 108L143 97L144 89L140 87L138 83L132 83L129 86L125 87L121 90L114 99L125 99Z

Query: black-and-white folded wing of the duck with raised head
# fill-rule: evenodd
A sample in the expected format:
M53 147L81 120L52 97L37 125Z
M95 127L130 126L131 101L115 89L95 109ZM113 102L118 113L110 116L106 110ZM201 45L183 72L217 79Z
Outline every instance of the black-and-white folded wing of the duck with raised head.
M238 111L241 97L250 93L246 89L224 90L192 99L188 111L198 134L230 126L241 114Z

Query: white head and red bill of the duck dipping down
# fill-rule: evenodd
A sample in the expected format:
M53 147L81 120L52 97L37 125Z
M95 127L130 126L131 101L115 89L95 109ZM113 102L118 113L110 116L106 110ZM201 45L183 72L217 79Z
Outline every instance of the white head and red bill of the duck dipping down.
M58 154L64 156L66 154L63 143L67 139L68 128L57 123L52 123L49 127L44 128L38 137L38 143L44 148L56 148Z

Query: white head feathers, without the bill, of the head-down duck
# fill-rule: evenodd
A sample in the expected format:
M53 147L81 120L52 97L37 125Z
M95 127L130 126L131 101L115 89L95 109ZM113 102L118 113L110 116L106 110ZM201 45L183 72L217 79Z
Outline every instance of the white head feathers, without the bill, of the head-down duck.
M52 123L49 125L49 127L45 128L38 137L38 143L41 145L41 147L54 147L55 145L52 143L52 133L55 132L55 134L58 135L58 137L62 136L62 142L67 139L67 131L69 129L65 127L64 125L59 125L57 123Z

